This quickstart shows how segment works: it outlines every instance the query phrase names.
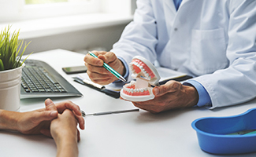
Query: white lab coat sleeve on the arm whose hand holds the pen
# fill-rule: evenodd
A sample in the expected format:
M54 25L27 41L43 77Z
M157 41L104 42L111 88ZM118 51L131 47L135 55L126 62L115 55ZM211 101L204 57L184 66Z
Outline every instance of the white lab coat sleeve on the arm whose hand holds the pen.
M155 46L157 27L149 0L138 0L134 20L124 28L121 38L110 51L122 57L127 64L136 55L143 56L151 63L156 60Z

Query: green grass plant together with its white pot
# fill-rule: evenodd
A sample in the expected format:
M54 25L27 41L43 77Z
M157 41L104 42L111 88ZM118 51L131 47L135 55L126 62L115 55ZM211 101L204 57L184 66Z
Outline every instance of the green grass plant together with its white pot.
M18 39L19 34L20 31L11 34L10 26L0 33L0 109L9 111L20 109L20 82L24 68L24 61L20 59L29 44L24 44L20 53L24 41Z

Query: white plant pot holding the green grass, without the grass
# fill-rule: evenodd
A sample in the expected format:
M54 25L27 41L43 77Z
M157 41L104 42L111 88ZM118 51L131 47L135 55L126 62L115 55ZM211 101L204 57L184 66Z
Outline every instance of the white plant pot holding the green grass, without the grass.
M20 82L24 66L0 71L0 109L20 111Z

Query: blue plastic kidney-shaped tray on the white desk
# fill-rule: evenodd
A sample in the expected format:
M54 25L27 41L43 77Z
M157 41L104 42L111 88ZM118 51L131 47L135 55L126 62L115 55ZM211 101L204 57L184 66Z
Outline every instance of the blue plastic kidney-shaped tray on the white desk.
M213 154L256 152L256 134L230 135L256 129L256 108L241 115L196 119L191 126L197 133L200 148Z

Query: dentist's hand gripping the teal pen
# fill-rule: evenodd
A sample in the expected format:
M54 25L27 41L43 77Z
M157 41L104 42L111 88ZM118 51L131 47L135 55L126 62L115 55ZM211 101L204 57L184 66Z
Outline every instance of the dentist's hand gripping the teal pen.
M91 81L100 85L107 85L117 80L113 74L107 71L106 68L103 68L103 62L119 74L124 75L124 64L121 60L118 60L114 53L105 51L92 51L92 53L95 53L98 58L87 54L83 59L85 66L87 66L87 75Z

